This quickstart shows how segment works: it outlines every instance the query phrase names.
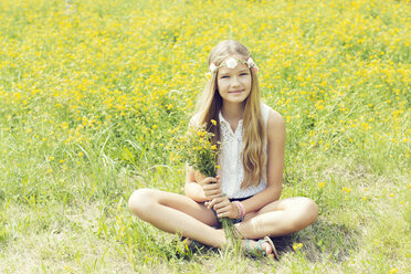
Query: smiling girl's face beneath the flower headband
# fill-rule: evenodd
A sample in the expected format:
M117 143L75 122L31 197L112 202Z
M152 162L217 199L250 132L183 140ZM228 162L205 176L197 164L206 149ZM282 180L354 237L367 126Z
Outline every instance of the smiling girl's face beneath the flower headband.
M217 86L223 103L244 103L251 92L251 72L247 65L239 63L234 68L220 67Z

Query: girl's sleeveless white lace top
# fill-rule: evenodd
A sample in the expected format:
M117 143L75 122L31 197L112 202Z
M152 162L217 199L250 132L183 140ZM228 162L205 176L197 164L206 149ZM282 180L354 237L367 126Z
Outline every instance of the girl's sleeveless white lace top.
M265 104L261 104L261 112L266 126L270 107ZM222 191L229 198L246 198L254 196L266 188L266 182L262 180L256 187L241 189L241 183L244 179L244 169L241 159L241 149L243 147L243 120L241 119L239 122L235 133L233 133L230 123L224 119L221 112L219 118L221 130L219 165L221 166L220 176Z

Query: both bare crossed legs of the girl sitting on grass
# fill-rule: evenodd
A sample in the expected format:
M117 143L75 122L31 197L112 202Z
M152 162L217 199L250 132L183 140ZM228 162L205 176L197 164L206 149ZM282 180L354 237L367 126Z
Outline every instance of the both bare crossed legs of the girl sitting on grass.
M141 220L156 228L179 233L207 245L223 247L224 232L214 229L217 219L210 209L190 198L160 190L136 190L128 207ZM272 202L257 212L247 213L235 224L244 239L285 235L315 222L318 208L308 198L296 197Z

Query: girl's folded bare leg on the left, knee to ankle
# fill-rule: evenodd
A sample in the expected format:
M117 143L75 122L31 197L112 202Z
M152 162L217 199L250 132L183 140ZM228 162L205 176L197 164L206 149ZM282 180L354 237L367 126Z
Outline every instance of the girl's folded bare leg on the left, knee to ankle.
M186 196L139 189L129 198L128 207L138 218L162 231L215 247L226 243L224 232L211 226L217 224L213 212Z

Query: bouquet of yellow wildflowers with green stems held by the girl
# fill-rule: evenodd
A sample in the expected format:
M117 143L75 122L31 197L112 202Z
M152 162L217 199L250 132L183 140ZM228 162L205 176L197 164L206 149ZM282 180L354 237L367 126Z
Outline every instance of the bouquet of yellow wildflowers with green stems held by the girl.
M217 122L212 119L211 126L217 126ZM191 127L183 139L186 146L182 151L182 158L196 172L200 172L202 177L215 177L217 170L220 169L220 166L217 165L220 148L215 144L212 144L214 134L208 131L207 129L209 128L207 124ZM221 218L220 221L222 222L225 235L233 242L235 239L235 228L232 220L230 218Z

